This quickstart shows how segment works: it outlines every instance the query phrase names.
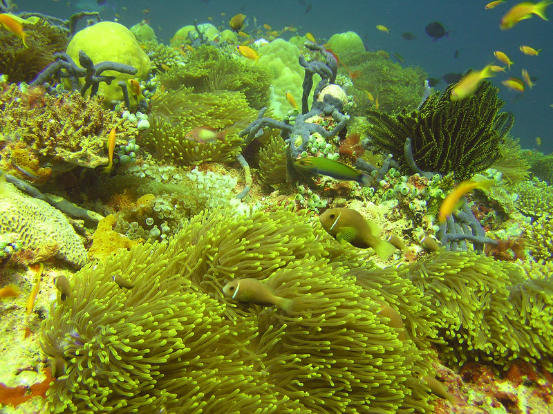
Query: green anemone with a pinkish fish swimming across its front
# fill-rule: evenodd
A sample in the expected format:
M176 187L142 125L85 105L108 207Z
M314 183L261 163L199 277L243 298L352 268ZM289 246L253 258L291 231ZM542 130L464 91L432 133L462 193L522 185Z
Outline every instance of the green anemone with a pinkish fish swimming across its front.
M234 160L243 145L238 132L256 115L242 93L193 93L187 88L158 97L151 111L151 131L143 142L156 156L176 164ZM205 144L188 140L186 133L200 126L225 131L225 141Z

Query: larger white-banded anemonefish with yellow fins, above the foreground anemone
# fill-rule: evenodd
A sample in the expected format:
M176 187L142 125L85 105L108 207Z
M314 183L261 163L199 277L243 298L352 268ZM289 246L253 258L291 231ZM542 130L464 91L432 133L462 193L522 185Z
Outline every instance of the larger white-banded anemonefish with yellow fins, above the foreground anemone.
M372 247L382 260L395 252L395 246L378 238L380 229L353 209L328 209L319 216L323 228L339 243L348 242L359 249Z

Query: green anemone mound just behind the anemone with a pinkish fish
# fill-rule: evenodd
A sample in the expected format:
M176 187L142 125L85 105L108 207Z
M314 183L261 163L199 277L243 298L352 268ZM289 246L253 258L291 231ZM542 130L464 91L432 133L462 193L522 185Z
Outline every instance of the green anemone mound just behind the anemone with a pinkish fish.
M192 88L196 93L236 91L247 103L261 109L269 103L272 71L250 62L234 59L214 46L200 46L187 56L185 65L173 66L160 75L165 88Z

